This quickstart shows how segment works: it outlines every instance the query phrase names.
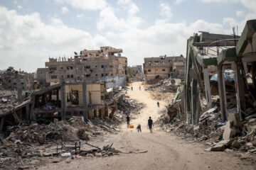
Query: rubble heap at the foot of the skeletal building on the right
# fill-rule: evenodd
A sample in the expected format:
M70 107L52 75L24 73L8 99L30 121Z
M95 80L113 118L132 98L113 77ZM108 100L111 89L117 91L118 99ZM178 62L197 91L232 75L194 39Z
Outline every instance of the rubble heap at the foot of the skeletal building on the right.
M210 145L206 149L208 151L233 149L255 155L256 118L252 117L254 116L248 116L241 122L238 113L228 113L228 121L223 123L220 111L215 107L201 115L198 125L188 125L180 118L166 124L163 117L160 118L159 125L164 131L174 132L188 142L203 142L205 145Z

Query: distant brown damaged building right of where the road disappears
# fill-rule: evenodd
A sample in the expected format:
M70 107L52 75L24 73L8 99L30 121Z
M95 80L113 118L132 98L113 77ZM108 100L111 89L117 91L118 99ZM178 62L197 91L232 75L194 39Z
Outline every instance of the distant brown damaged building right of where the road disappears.
M183 55L177 57L148 57L144 58L144 74L146 81L154 79L165 79L170 77L174 72L181 71L185 68L185 59Z

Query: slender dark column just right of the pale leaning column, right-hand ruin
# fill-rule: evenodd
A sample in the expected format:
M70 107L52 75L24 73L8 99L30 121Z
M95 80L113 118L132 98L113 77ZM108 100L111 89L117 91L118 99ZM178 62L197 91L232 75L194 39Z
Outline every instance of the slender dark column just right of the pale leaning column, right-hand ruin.
M217 67L217 72L218 72L218 93L220 96L220 111L221 111L221 118L223 121L227 120L227 116L226 116L226 94L225 94L225 89L223 88L223 86L225 86L225 84L223 84L223 66L218 66ZM224 80L225 82L225 80Z

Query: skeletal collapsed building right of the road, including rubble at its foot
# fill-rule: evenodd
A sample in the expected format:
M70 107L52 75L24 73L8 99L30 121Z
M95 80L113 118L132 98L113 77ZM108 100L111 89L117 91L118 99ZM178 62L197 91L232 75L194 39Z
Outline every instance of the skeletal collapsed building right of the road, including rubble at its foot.
M208 151L256 152L256 20L240 36L207 32L187 42L186 81L167 107L167 131L206 141ZM164 127L164 125L162 125Z

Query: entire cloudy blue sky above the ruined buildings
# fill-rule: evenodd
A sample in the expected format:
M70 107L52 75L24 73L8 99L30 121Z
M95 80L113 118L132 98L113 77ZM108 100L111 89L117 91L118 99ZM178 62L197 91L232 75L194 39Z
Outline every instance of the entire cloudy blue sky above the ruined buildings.
M129 65L186 55L193 33L241 33L255 16L255 0L1 0L0 69L35 72L49 56L103 45L122 48Z

